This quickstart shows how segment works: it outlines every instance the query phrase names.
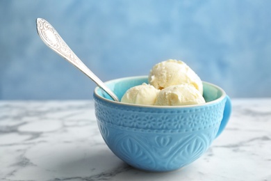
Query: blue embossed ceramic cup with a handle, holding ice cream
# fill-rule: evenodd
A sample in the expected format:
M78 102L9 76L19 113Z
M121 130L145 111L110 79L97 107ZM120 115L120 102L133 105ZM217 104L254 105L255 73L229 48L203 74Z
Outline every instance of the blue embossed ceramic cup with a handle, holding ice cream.
M145 77L106 82L119 97ZM205 104L158 107L113 101L95 88L95 115L104 141L117 157L145 171L174 171L199 158L221 134L231 114L222 88L204 82Z

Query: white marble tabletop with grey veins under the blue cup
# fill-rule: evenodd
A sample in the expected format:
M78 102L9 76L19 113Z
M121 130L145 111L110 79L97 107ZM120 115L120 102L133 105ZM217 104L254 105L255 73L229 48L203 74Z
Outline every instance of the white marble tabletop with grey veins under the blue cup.
M195 162L147 173L113 155L88 101L0 101L0 180L271 180L271 98L236 99Z

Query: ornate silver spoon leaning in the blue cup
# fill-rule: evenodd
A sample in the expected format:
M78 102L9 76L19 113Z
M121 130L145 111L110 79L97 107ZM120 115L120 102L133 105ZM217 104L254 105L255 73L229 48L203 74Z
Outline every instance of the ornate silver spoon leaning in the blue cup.
M49 48L53 49L54 52L58 53L60 56L65 58L69 63L72 63L76 68L81 70L84 74L86 74L92 81L94 81L99 87L104 89L113 100L120 102L117 95L111 91L106 84L104 84L101 79L99 79L91 70L72 52L72 49L68 47L68 45L64 42L64 40L60 37L56 29L54 29L49 22L45 19L38 18L36 20L37 23L37 31L42 41Z

